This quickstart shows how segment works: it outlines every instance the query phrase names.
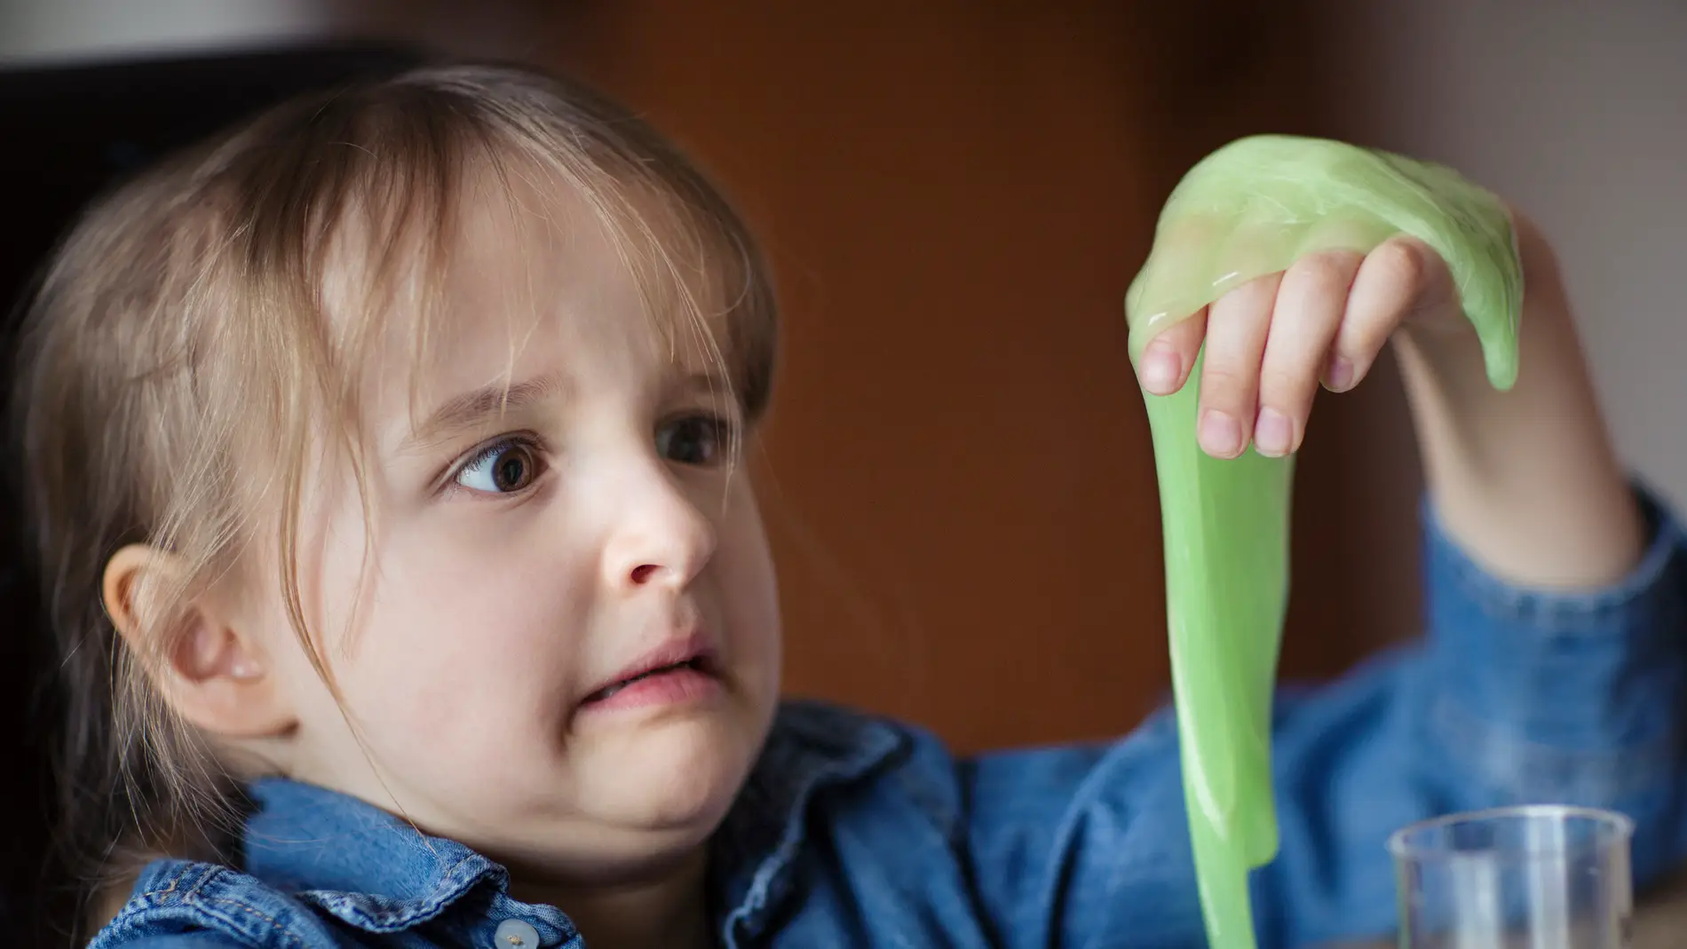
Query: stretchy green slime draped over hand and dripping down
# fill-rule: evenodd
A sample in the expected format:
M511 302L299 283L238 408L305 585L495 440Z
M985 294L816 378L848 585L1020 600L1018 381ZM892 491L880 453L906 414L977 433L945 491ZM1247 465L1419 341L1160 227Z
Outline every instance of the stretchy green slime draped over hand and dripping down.
M1523 273L1505 206L1441 165L1280 135L1220 148L1172 190L1125 297L1132 361L1166 327L1248 280L1314 251L1368 253L1402 233L1447 261L1488 379L1508 389L1517 381ZM1210 946L1247 949L1248 871L1277 855L1272 684L1289 590L1294 460L1253 450L1216 460L1199 448L1199 359L1181 391L1144 399L1201 912Z

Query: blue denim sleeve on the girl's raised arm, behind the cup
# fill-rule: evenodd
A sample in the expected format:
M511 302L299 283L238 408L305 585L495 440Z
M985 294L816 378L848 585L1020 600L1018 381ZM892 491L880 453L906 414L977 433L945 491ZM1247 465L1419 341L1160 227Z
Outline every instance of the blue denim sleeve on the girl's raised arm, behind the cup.
M1253 875L1262 949L1387 934L1387 836L1515 802L1636 821L1643 885L1687 855L1682 531L1616 585L1510 587L1426 517L1429 635L1319 689L1280 689L1279 856ZM1292 632L1291 632L1292 635ZM1004 946L1205 944L1171 716L1122 742L962 765L967 844Z

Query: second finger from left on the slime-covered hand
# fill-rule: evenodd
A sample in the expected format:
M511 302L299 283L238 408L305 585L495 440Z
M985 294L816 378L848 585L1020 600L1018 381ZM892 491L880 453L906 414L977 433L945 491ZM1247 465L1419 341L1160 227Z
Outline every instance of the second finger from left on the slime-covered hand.
M1215 458L1235 458L1248 447L1279 281L1277 273L1250 280L1208 307L1196 438Z

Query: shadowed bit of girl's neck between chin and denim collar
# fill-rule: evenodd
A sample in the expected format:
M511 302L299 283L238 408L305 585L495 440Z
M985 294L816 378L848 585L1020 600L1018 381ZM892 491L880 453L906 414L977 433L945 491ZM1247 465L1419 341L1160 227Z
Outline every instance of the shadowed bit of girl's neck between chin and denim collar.
M712 949L714 927L702 850L671 871L601 890L558 890L513 882L518 900L550 903L574 920L592 949Z

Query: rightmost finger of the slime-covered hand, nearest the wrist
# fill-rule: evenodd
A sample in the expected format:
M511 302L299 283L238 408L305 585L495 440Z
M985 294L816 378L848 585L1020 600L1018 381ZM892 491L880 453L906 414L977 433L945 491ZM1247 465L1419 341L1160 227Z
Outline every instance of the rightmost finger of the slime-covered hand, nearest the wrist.
M1407 319L1456 303L1446 261L1415 238L1383 241L1360 265L1348 292L1348 312L1324 367L1324 386L1345 393L1360 384L1377 354Z

